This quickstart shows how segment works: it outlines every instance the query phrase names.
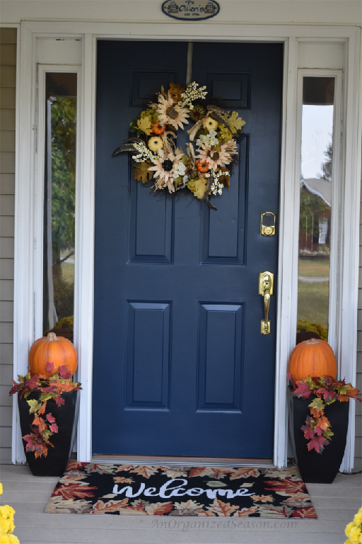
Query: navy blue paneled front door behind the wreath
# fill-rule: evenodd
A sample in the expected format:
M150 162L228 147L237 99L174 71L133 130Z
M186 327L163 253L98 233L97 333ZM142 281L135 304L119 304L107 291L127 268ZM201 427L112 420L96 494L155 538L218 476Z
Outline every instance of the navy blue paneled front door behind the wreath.
M185 84L187 43L98 42L93 453L272 457L276 290L264 336L258 282L278 240L259 221L279 208L282 59L280 44L194 43L192 81L246 121L214 211L111 158L144 98Z

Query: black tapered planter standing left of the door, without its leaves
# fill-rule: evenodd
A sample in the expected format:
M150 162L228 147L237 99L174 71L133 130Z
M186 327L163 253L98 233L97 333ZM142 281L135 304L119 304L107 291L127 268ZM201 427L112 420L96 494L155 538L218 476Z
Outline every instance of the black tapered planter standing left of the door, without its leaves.
M33 451L26 451L26 442L23 440L25 457L30 470L35 476L62 476L71 453L71 436L73 430L74 412L76 406L76 395L78 391L68 391L62 393L64 404L57 407L53 399L47 401L45 409L46 414L52 414L58 426L58 432L54 433L49 441L53 444L48 446L48 453L45 457L42 455L35 459ZM34 414L29 414L30 399L39 399L39 392L30 393L27 399L21 399L18 394L18 406L20 413L21 436L31 433L30 425L33 423Z

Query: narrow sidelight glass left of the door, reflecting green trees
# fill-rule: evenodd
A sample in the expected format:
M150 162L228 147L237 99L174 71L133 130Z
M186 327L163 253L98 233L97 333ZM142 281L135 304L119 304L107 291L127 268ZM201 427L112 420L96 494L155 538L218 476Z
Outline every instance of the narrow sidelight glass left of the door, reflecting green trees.
M76 77L47 73L45 79L43 329L46 334L55 327L58 336L70 340L76 258Z

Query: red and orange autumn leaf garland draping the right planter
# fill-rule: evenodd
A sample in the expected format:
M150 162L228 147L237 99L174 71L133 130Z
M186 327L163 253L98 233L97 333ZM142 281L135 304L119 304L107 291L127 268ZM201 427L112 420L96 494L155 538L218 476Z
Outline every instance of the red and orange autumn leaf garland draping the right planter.
M293 380L291 373L287 375L288 380L291 380L293 391L291 395L298 399L309 399L310 395L315 395L315 398L308 404L310 415L305 420L305 425L300 427L304 432L305 438L308 440L308 451L315 450L317 453L322 453L325 446L329 444L333 433L331 424L325 416L325 407L332 402L348 402L350 398L362 402L358 399L359 393L356 387L351 383L346 383L345 380L338 381L332 376L322 376L303 378L302 380Z

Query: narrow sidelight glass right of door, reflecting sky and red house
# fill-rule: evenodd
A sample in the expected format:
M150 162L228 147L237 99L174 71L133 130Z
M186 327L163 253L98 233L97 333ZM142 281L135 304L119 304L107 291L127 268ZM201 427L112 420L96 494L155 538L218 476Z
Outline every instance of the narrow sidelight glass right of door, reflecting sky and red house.
M327 340L333 111L334 77L303 78L297 343Z

